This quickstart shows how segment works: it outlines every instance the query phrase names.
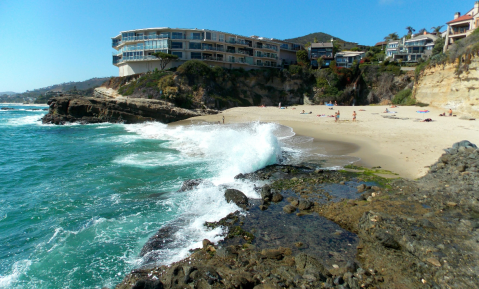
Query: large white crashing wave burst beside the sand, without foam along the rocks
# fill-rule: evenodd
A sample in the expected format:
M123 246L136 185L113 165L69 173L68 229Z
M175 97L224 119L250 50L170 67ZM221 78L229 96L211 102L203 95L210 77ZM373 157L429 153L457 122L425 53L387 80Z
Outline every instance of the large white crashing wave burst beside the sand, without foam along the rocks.
M210 169L225 180L276 163L281 154L281 146L274 135L278 127L271 123L180 126L174 129L161 123L125 126L127 131L144 138L170 141L169 147L178 150L183 160L193 158L210 162Z

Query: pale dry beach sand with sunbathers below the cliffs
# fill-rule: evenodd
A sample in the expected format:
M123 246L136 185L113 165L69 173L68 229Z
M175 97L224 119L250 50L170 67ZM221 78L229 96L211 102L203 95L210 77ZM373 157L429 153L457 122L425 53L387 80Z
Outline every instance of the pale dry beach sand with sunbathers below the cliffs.
M275 122L292 127L299 135L313 137L325 146L329 154L346 154L361 158L358 165L380 166L401 177L416 179L428 172L432 165L455 142L469 140L479 145L479 120L457 117L440 117L443 109L433 107L390 106L335 106L329 110L324 105L296 106L287 109L277 107L239 107L223 111L218 115L194 117L188 121L222 120L226 123L249 121ZM383 113L388 108L397 113ZM364 109L365 111L359 111ZM417 113L427 109L429 113ZM300 114L302 110L312 114ZM340 122L335 123L333 115L341 112ZM357 122L352 122L353 111ZM383 116L398 117L389 119ZM425 118L433 122L420 122ZM355 144L342 146L341 143Z

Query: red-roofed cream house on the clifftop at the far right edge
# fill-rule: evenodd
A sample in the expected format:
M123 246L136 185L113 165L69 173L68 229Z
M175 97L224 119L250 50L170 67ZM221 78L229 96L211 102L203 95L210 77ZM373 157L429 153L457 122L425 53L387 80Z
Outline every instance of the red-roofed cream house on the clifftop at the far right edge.
M469 34L479 27L479 1L476 1L474 8L462 16L460 12L456 12L454 19L446 24L447 30L444 53L446 53L451 44L469 36Z

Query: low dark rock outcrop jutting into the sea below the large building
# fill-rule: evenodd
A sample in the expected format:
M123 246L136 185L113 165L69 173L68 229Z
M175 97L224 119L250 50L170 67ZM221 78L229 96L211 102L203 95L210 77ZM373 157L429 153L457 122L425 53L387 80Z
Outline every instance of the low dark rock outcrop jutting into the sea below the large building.
M188 110L178 108L161 100L117 98L95 98L67 95L48 101L49 112L43 123L141 123L159 121L170 123L193 116L213 114L214 110Z

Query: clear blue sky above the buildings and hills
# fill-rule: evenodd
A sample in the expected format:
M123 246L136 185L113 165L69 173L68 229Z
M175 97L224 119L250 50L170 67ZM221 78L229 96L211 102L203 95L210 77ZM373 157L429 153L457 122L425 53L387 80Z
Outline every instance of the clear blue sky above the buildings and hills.
M325 32L373 45L406 26L430 29L474 0L0 0L0 91L117 76L111 37L147 27L279 39Z

